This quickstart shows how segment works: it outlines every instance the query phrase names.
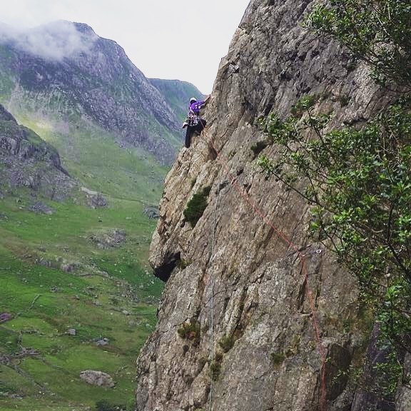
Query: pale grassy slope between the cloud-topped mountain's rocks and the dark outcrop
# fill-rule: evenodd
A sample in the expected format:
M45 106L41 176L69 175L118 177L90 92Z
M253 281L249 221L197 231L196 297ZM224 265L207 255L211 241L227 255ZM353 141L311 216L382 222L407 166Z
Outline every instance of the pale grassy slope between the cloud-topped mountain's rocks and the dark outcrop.
M63 166L87 188L107 196L158 203L166 168L138 148L121 148L115 136L81 119L62 124L33 113L14 113L59 151ZM59 131L59 128L66 130Z

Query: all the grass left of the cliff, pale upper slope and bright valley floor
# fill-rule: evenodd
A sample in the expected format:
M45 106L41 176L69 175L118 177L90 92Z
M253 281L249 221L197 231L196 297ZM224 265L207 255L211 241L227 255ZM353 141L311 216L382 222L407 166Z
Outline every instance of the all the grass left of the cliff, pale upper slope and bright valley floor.
M21 347L41 353L0 365L0 409L88 410L102 399L125 404L162 290L147 263L156 222L143 208L158 203L166 168L76 115L68 123L24 110L14 115L59 149L63 166L83 186L104 193L108 207L86 208L78 194L66 203L42 199L54 214L39 215L27 210L28 191L0 200L0 313L16 316L0 325L0 357ZM123 246L101 250L91 243L91 235L113 228L126 230ZM64 273L36 263L41 258L81 268ZM66 335L68 328L77 335ZM98 347L99 337L110 344ZM86 369L108 372L116 387L87 385L79 378Z

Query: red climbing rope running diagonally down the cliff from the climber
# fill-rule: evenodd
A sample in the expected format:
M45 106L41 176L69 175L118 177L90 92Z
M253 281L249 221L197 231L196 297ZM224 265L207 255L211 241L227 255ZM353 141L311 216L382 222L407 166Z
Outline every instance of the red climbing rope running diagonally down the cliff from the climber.
M201 121L201 118L200 118ZM201 121L201 124L203 125L204 128L204 123ZM326 389L325 389L325 350L323 347L323 344L321 342L320 338L320 330L318 327L318 320L317 320L317 312L315 310L315 304L314 304L314 298L313 298L313 293L310 290L310 285L308 283L308 270L307 266L305 264L305 256L303 253L300 252L298 247L291 241L289 240L285 234L276 228L274 224L267 218L267 216L263 213L260 208L258 208L257 205L251 200L250 196L248 193L240 187L238 182L235 179L235 176L233 176L232 173L230 173L230 170L228 168L228 163L223 160L223 158L220 157L220 151L218 151L215 146L213 145L212 141L209 141L208 144L210 145L211 148L215 151L217 155L217 159L220 162L220 164L223 166L225 169L225 173L227 174L228 178L230 178L230 184L235 188L235 190L240 194L240 196L243 198L243 200L248 203L250 208L253 210L255 215L258 215L262 220L265 225L268 225L268 227L272 228L274 232L278 235L279 238L281 238L290 248L293 248L295 253L297 253L298 258L300 259L300 264L301 264L301 270L304 275L304 280L305 284L307 285L307 295L308 295L308 302L310 304L310 310L311 310L311 315L313 317L313 328L314 328L314 333L315 333L315 339L317 340L318 344L318 351L320 352L320 357L321 357L321 370L320 370L320 411L324 410L324 405L325 405L325 395L326 395Z

